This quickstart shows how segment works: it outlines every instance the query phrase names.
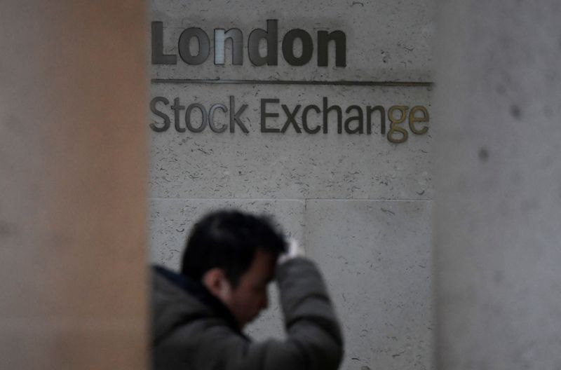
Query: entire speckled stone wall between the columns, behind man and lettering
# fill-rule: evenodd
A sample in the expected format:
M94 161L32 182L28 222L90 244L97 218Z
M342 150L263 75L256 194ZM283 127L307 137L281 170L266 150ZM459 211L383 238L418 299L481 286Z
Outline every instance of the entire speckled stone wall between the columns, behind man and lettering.
M429 43L431 1L151 1L151 21L164 25L164 51L177 54L177 39L187 27L201 27L210 37L210 56L200 65L182 60L175 66L151 65L151 78L306 80L306 81L431 81ZM252 29L278 19L278 66L255 67L244 49L243 65L213 63L213 29L241 29L244 43ZM309 64L292 67L280 51L284 34L301 28L316 42L319 30L346 33L347 66L318 67L317 48ZM298 46L296 47L298 48ZM346 332L345 370L431 369L431 263L428 231L433 197L430 148L433 134L432 90L419 86L263 85L159 83L150 100L170 118L165 132L150 130L151 259L177 268L180 250L193 221L210 209L241 207L274 214L279 223L318 261L334 294ZM236 111L248 104L241 122L248 133L177 132L171 106L224 104L216 111L218 126L229 123L230 97ZM380 105L386 115L395 105L420 105L431 115L428 132L415 135L407 125L407 142L392 144L381 135L378 114L372 134L337 133L332 112L329 131L285 133L261 131L262 99L278 99L266 110L267 127L283 128L295 115L302 129L302 111L309 104L323 109L342 107L344 122L356 116L345 110ZM180 130L186 127L180 111ZM407 113L409 110L407 110ZM396 115L397 116L397 115ZM395 117L395 116L394 116ZM396 117L397 118L397 117ZM195 109L194 125L201 122ZM311 111L309 125L322 123ZM162 127L162 118L149 113L149 122ZM364 123L366 118L364 117ZM355 128L356 123L351 123ZM302 130L303 131L303 130ZM400 137L400 135L396 135ZM351 201L348 201L351 200ZM404 201L405 200L405 201ZM345 254L344 259L339 256ZM274 288L271 309L248 328L255 338L283 337Z

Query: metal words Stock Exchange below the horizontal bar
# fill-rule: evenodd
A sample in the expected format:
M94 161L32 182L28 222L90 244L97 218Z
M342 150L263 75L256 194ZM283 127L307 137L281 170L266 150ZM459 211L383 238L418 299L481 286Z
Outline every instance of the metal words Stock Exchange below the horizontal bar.
M199 103L189 104L186 107L181 104L179 97L173 100L172 105L165 97L154 97L150 102L150 111L159 118L150 123L150 128L155 132L167 131L172 124L171 116L177 132L187 130L203 132L206 128L216 133L226 130L236 132L237 125L242 132L248 133L248 128L241 120L241 116L247 108L248 104L241 104L236 110L234 96L229 97L229 107L218 103L212 104L208 110ZM376 121L380 134L386 135L386 116L389 121L389 130L386 135L389 142L403 143L407 141L409 132L424 135L428 131L428 111L426 107L419 105L411 109L405 105L393 105L387 111L381 105L364 108L350 105L346 109L342 109L339 105L330 106L327 97L323 97L321 104L309 104L305 107L302 107L301 104L288 107L286 104L280 104L278 99L260 99L259 108L260 131L270 134L283 134L289 130L294 130L298 134L302 134L302 132L327 134L330 130L330 123L332 123L337 127L337 134L342 134L344 131L347 134L366 132L367 135L370 135L372 126L375 124L374 121ZM185 111L184 114L182 111ZM222 113L217 114L217 111ZM281 116L280 112L283 114L284 122L282 119L278 119ZM222 120L219 116L222 116ZM333 118L336 123L333 123Z

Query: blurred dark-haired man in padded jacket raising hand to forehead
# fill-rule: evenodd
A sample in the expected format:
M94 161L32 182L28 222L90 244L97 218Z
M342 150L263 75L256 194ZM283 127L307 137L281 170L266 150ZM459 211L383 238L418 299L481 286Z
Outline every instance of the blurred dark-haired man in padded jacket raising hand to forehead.
M323 280L296 243L286 249L264 217L219 211L198 222L181 273L154 270L154 369L337 369L342 336ZM275 277L287 338L255 343L242 329Z

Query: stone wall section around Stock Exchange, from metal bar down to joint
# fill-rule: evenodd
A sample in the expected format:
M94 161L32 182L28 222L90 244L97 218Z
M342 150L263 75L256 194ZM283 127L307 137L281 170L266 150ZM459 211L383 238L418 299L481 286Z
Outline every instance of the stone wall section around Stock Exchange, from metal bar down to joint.
M152 161L151 196L160 198L355 198L355 199L429 199L433 188L428 150L431 145L431 123L425 135L409 131L407 142L392 144L380 135L379 114L372 114L372 134L337 133L335 112L330 113L327 134L297 133L292 125L285 133L260 132L260 100L276 98L292 111L297 104L315 104L323 109L323 97L329 106L338 104L345 110L357 104L422 105L431 113L430 92L426 88L368 87L274 87L231 85L153 85L151 96L163 96L182 105L203 104L208 111L215 103L229 107L229 96L235 96L236 109L248 104L242 121L249 130L236 132L150 132ZM278 112L269 118L271 128L282 129L286 114L280 104L266 109ZM171 105L171 104L170 104ZM170 107L167 112L173 119ZM398 116L398 113L394 113ZM184 111L181 126L185 127ZM343 121L347 116L343 113ZM227 113L217 112L217 124L227 124ZM323 117L309 114L309 125L315 127ZM193 114L197 124L198 111ZM161 121L151 114L151 120ZM297 118L302 129L302 120ZM354 123L352 124L354 125ZM420 126L421 124L419 124ZM353 126L354 127L354 126ZM386 134L389 122L386 122ZM366 131L365 131L366 132ZM396 137L400 137L396 134Z

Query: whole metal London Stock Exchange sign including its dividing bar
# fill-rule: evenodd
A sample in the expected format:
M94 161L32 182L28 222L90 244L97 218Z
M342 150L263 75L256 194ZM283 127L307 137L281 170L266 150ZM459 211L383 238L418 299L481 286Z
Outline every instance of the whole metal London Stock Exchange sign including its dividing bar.
M173 68L179 64L197 68L201 64L215 66L243 66L245 55L254 68L278 67L283 64L301 67L310 63L316 68L347 68L347 39L344 31L290 29L278 32L279 20L266 20L264 29L256 28L244 34L238 28L215 28L212 32L201 27L187 27L177 37L174 49L166 52L166 25L161 21L151 22L151 63ZM211 36L209 36L209 34ZM212 40L211 40L212 39ZM281 41L279 50L279 41ZM226 62L227 43L230 43L231 60ZM176 47L175 47L176 46ZM314 57L316 51L316 57ZM173 70L172 70L173 71ZM333 85L333 86L384 86L384 87L428 87L430 83L395 81L349 81L315 79L219 79L219 78L153 78L152 83L183 85ZM246 98L247 99L247 98ZM216 134L243 132L249 135L248 118L245 112L257 111L259 132L266 135L295 132L301 135L383 135L388 142L406 142L412 135L428 132L430 116L421 104L406 105L402 102L383 106L371 104L339 104L336 97L318 96L313 100L287 104L275 96L256 96L255 100L240 101L236 95L224 96L214 102L185 101L180 97L155 96L151 98L151 130L178 133L209 131Z

